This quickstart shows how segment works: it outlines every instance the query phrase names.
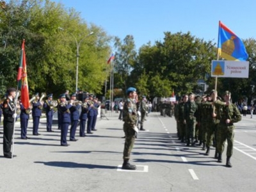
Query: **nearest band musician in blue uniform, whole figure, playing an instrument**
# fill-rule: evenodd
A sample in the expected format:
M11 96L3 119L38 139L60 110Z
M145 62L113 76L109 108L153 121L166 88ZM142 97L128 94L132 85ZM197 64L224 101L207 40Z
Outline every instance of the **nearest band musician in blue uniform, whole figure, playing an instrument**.
M68 146L67 143L67 134L68 134L68 125L70 124L70 111L69 109L72 107L71 104L66 103L66 96L65 94L61 95L60 105L58 106L60 110L60 122L61 122L61 138L60 138L60 145L61 146Z

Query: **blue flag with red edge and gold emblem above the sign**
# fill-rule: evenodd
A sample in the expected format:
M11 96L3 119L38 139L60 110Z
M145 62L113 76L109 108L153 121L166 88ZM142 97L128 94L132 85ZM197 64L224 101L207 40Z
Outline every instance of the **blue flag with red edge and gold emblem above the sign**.
M246 61L248 58L242 40L221 21L219 23L218 56L232 61Z

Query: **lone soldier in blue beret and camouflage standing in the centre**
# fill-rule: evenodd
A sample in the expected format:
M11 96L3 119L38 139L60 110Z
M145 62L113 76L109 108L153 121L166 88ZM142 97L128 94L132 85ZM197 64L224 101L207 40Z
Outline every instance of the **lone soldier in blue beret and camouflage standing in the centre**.
M124 170L136 170L136 166L129 163L131 151L134 145L135 138L137 137L138 128L136 127L137 109L134 99L136 98L136 88L128 88L126 90L127 101L124 104L124 163L122 169Z

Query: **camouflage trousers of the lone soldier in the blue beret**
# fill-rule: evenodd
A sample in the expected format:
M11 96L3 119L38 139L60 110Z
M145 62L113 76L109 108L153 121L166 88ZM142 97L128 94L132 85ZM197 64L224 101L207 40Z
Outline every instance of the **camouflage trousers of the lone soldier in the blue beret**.
M135 131L132 129L133 125L124 123L125 143L123 159L129 160L132 152L132 148L135 141Z

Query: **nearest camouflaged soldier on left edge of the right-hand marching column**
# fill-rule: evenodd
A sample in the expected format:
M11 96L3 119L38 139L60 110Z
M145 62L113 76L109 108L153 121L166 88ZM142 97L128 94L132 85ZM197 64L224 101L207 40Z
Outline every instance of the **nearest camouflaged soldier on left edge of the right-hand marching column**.
M195 95L189 93L189 101L186 102L184 106L184 124L186 124L186 134L187 134L187 146L191 143L192 146L195 145L195 127L196 127L196 111L197 105L195 102ZM190 140L191 139L191 140Z

